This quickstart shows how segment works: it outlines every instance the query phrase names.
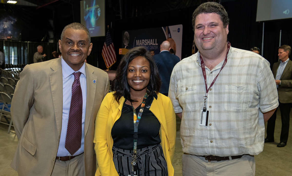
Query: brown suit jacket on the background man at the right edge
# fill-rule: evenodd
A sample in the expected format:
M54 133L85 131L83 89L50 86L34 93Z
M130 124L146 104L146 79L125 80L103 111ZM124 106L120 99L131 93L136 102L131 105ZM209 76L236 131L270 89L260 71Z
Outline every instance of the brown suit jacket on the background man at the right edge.
M279 65L280 62L276 62L272 68L275 79ZM278 86L278 97L280 103L292 103L292 61L290 59L288 60L280 80L281 85Z

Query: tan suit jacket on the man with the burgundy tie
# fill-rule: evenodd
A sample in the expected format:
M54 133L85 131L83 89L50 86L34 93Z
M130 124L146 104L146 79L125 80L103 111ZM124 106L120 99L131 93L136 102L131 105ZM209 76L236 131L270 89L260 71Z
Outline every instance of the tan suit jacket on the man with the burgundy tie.
M86 176L91 176L96 170L95 117L108 93L109 77L89 64L85 64L85 71L84 163ZM27 65L20 73L11 103L11 115L19 139L11 167L18 171L19 176L51 175L62 129L62 95L61 58Z

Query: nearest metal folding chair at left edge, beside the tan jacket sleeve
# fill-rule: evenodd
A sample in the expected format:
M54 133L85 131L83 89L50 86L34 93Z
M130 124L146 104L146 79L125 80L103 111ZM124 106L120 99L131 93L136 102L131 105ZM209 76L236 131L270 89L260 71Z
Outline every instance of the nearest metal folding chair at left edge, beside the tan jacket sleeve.
M8 94L6 94L5 92L0 92L0 95L1 95L2 101L4 102L4 104L2 105L2 111L1 111L1 115L0 115L0 123L9 125L7 133L10 133L11 126L13 126L11 112L10 112L12 98ZM1 122L2 116L5 118L7 123ZM10 121L9 121L9 119L10 119Z

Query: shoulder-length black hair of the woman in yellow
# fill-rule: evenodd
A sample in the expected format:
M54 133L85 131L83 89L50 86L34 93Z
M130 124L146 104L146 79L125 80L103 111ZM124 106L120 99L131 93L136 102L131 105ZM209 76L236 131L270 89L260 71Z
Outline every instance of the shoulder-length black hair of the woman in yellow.
M117 102L119 102L122 96L124 96L127 100L131 102L135 102L131 99L130 86L127 81L127 70L129 63L138 56L142 56L147 59L147 61L149 61L151 74L150 81L147 87L147 89L149 89L150 91L148 95L154 95L155 92L157 94L159 93L161 80L154 59L150 55L150 52L147 51L146 47L138 46L130 49L121 59L121 62L117 68L116 77L112 81L112 90L115 91L114 99Z

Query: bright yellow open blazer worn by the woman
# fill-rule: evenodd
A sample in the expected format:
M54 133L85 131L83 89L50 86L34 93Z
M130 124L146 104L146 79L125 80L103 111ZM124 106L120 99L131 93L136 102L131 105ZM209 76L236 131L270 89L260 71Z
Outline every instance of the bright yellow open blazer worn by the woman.
M98 169L95 176L118 176L114 167L112 153L112 126L121 117L124 97L119 103L114 100L114 92L108 93L103 99L95 120L94 144L98 161ZM176 119L172 103L167 96L158 94L157 99L153 99L150 111L160 122L160 139L163 154L167 163L168 175L173 176L174 170L171 164L175 147Z

